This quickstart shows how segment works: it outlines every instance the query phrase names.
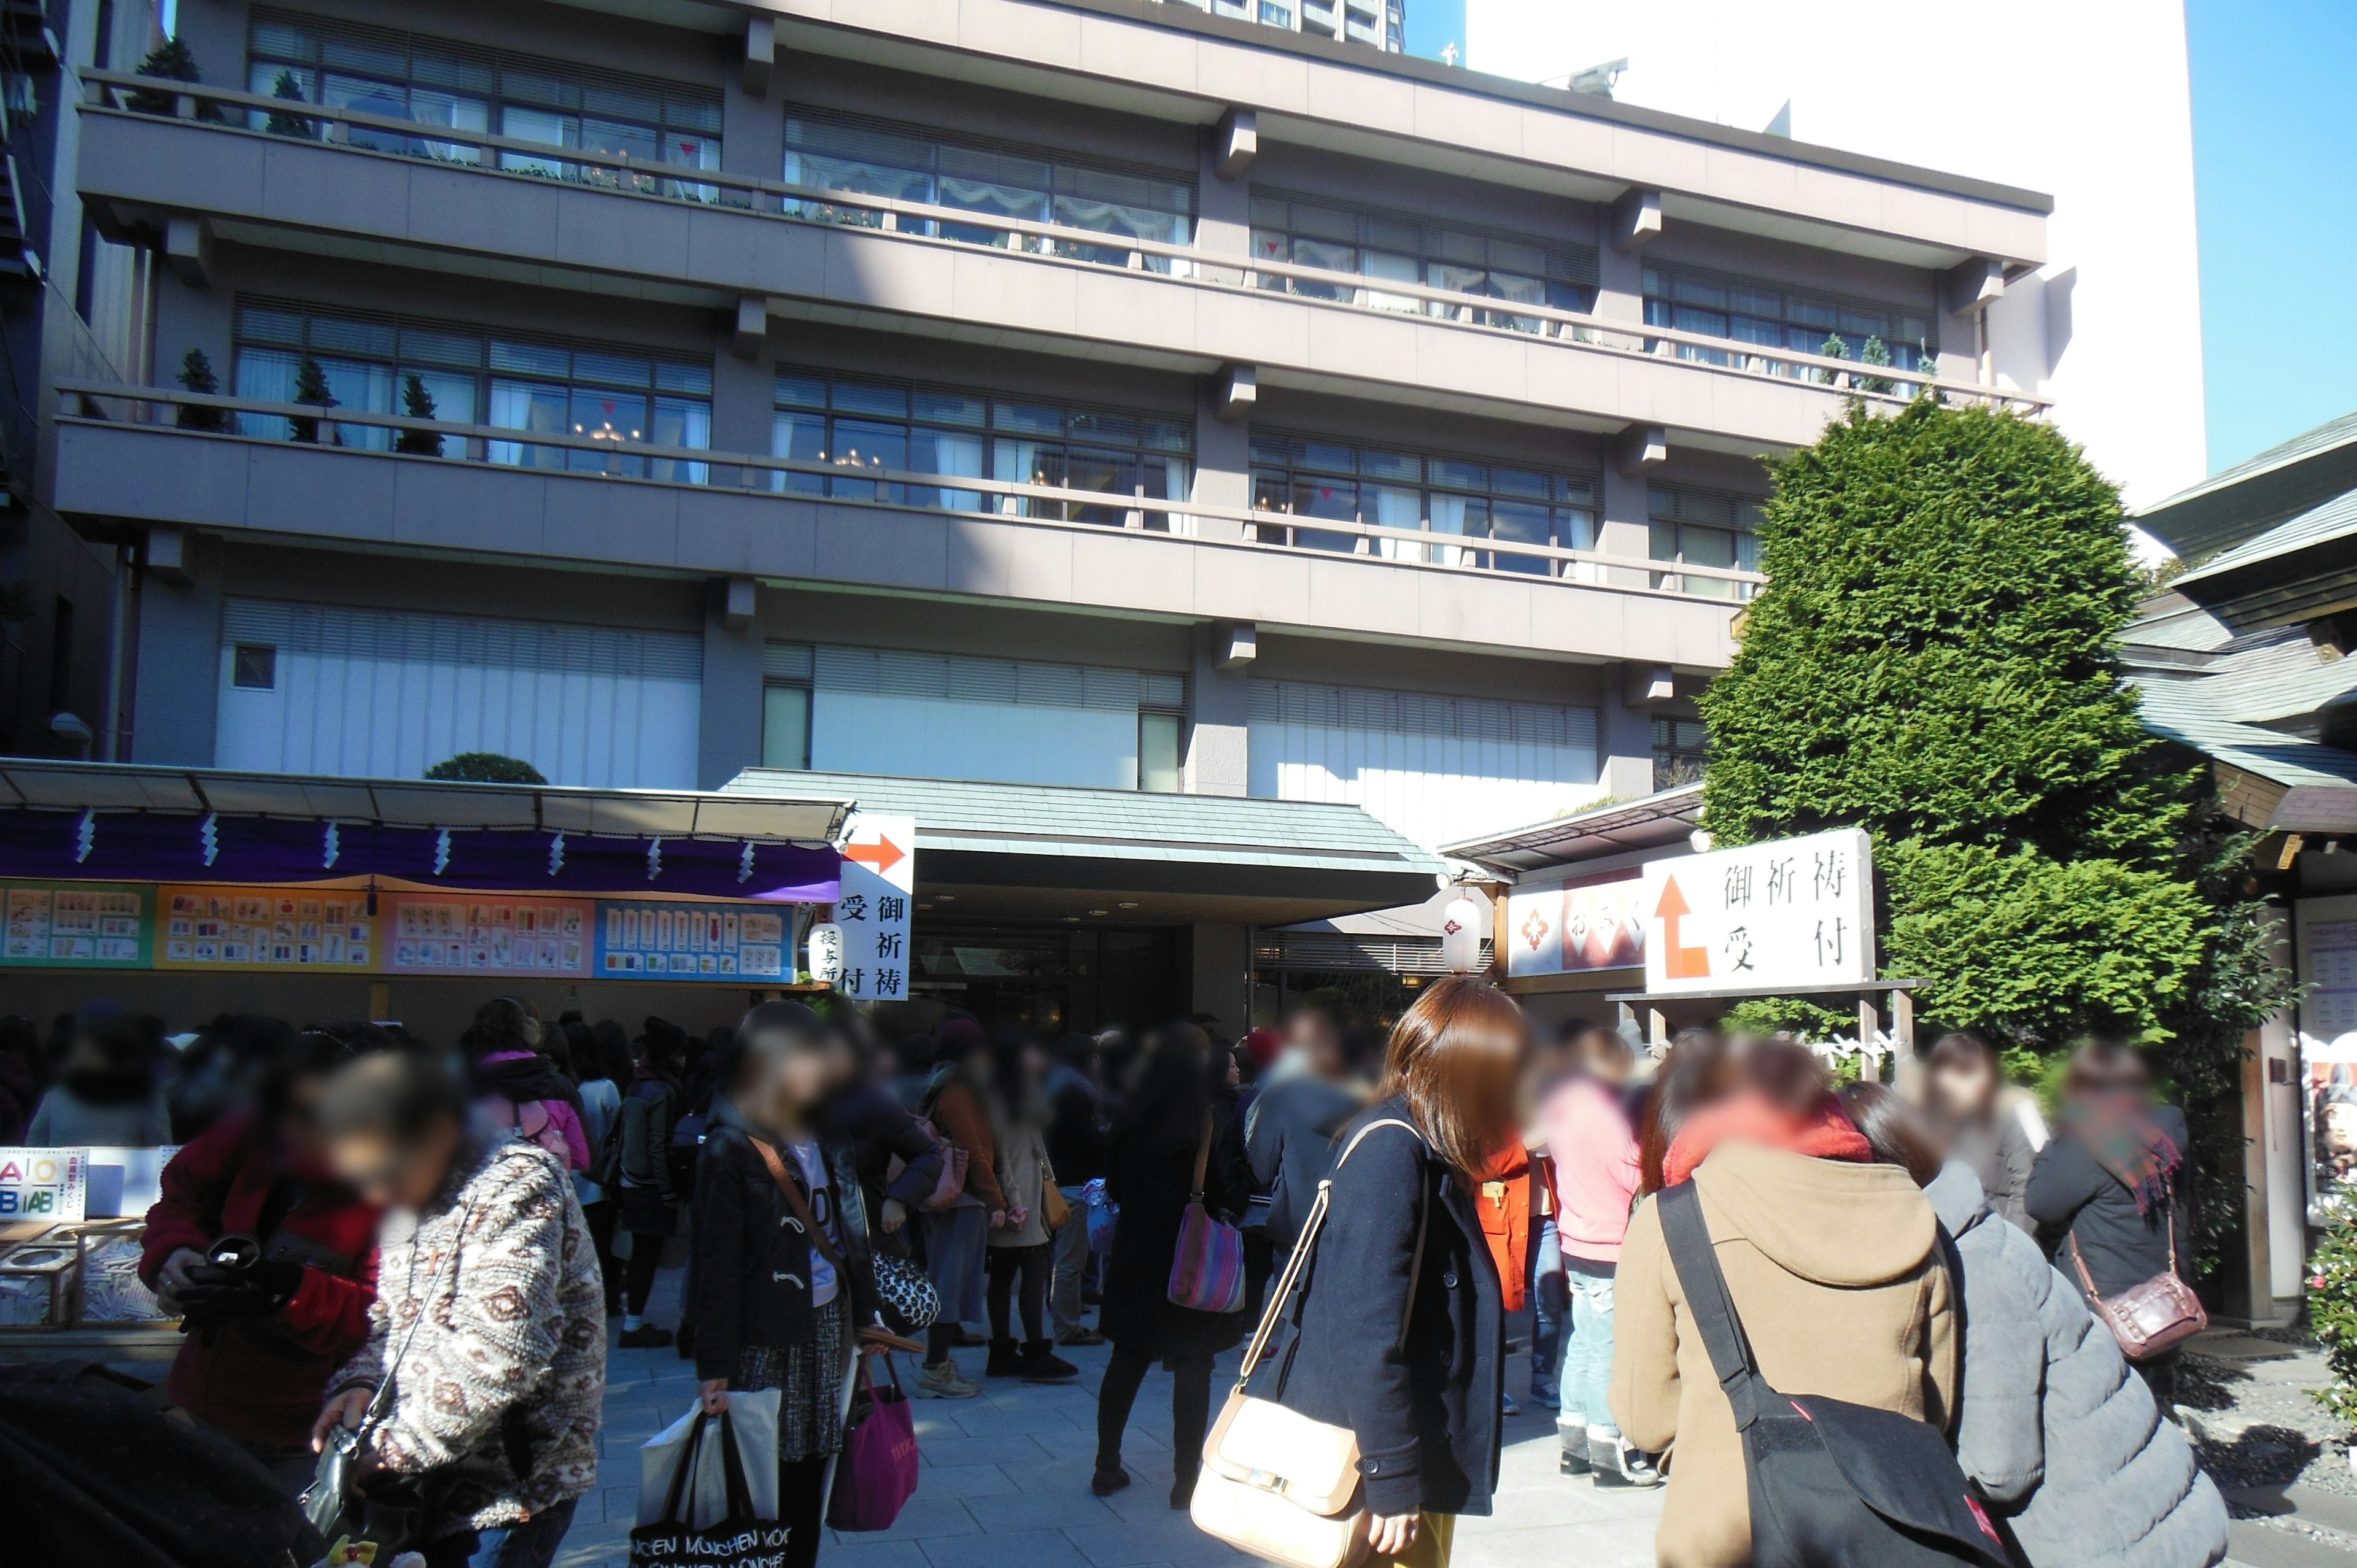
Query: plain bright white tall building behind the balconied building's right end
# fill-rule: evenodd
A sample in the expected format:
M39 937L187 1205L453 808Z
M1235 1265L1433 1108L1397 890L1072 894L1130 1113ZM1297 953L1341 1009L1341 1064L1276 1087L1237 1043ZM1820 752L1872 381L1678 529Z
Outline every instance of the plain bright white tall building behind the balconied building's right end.
M2022 28L1886 0L1466 0L1466 64L2051 191L2046 262L1987 307L1989 373L2051 394L2131 509L2206 476L2178 0L2053 0Z

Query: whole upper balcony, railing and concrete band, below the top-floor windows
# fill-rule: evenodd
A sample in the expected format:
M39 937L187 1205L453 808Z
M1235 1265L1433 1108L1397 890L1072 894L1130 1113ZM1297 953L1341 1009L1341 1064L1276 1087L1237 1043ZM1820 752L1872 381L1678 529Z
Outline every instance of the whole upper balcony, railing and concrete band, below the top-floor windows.
M1919 377L1732 347L1539 299L1369 281L1136 233L636 163L189 83L90 71L78 186L115 233L203 271L207 233L969 337L1730 450L1815 441ZM146 94L134 99L132 94ZM172 113L113 104L146 101ZM238 123L226 123L236 118ZM276 130L273 130L276 127ZM759 344L754 342L754 349ZM1966 382L1945 396L2041 408Z

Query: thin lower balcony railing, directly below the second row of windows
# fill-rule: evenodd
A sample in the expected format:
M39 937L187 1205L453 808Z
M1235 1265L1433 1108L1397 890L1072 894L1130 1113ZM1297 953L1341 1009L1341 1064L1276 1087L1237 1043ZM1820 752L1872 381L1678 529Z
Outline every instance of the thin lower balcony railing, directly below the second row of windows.
M1765 578L1756 571L1725 566L1685 566L1666 571L1664 561L1617 556L1600 549L1563 545L1527 545L1487 535L1454 535L1424 528L1386 528L1329 516L1294 519L1289 512L1216 507L1197 500L1162 500L1153 495L1117 495L1075 490L1068 486L978 479L973 474L924 474L882 465L804 462L764 453L714 453L705 448L658 446L648 441L603 441L563 431L519 431L507 424L460 424L453 420L412 420L408 415L325 408L318 403L271 403L262 398L212 396L167 387L125 387L118 382L59 382L61 420L68 424L139 424L165 427L200 441L243 441L288 446L285 439L255 434L262 424L285 420L290 431L309 436L306 450L354 450L408 462L474 462L516 467L504 450L516 446L568 455L566 462L542 462L528 472L573 472L610 483L646 483L679 488L726 486L726 469L738 472L735 488L775 493L780 505L813 502L816 495L785 493L787 474L811 474L830 481L830 505L877 507L893 512L950 512L976 521L1016 523L1025 528L1136 533L1202 533L1216 519L1235 523L1244 547L1280 552L1320 552L1381 559L1426 571L1516 573L1586 582L1631 594L1666 599L1749 599ZM344 431L354 436L344 436ZM403 436L408 436L403 441ZM580 469L570 455L582 455L592 469ZM641 479L641 474L653 474ZM867 495L846 495L858 483ZM915 498L929 498L915 500ZM1115 521L1117 519L1117 521ZM1692 580L1692 585L1690 585Z

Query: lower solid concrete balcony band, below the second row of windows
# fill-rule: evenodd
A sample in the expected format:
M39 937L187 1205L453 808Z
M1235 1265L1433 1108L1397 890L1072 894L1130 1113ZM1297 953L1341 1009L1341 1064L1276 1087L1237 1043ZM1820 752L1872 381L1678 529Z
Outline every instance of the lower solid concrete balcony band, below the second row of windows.
M724 457L724 455L717 455ZM726 462L714 462L726 469ZM733 469L731 469L733 472ZM1730 604L1138 528L606 479L61 417L57 509L90 535L153 526L561 571L1061 604L1525 658L1721 670Z

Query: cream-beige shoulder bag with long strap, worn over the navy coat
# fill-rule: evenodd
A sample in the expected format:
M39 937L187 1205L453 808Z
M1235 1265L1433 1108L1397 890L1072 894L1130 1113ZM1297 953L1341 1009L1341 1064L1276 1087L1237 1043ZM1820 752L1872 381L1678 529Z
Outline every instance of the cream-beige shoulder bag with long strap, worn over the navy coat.
M1400 1127L1419 1144L1424 1137L1398 1118L1367 1122L1334 1160L1334 1177L1360 1141L1376 1127ZM1318 1184L1318 1203L1301 1226L1301 1240L1268 1294L1261 1327L1244 1346L1244 1365L1228 1391L1228 1403L1202 1445L1202 1474L1195 1478L1195 1502L1188 1514L1204 1535L1249 1551L1280 1568L1351 1568L1367 1556L1367 1500L1358 1478L1358 1434L1327 1427L1287 1410L1273 1398L1244 1394L1252 1370L1268 1351L1268 1339L1285 1318L1285 1304L1301 1280L1301 1269L1318 1247L1334 1177ZM1414 1278L1424 1266L1424 1224L1428 1198L1417 1207L1417 1257L1409 1266L1409 1306ZM1407 1337L1407 1313L1400 1313L1400 1339Z

